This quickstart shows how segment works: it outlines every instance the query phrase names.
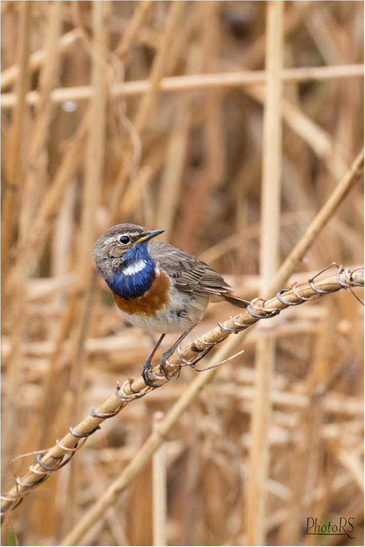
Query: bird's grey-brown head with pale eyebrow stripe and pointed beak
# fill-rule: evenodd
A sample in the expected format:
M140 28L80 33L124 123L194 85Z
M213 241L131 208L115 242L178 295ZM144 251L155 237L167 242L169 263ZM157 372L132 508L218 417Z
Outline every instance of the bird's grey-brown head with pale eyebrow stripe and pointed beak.
M120 266L146 248L152 237L164 230L148 230L137 224L117 224L109 228L95 243L94 260L98 274L105 281L113 278Z

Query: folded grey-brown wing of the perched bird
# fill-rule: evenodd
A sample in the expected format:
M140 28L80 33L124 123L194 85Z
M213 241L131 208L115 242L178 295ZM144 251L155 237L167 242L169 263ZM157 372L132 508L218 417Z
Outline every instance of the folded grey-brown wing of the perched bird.
M151 241L149 253L172 278L176 288L204 295L231 294L233 289L208 264L169 243Z

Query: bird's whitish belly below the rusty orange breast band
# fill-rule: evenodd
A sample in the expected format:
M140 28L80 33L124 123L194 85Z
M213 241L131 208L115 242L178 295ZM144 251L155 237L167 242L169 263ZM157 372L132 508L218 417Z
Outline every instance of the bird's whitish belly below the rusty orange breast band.
M147 332L182 333L201 321L207 310L208 303L208 296L181 293L173 288L169 304L158 310L154 317L130 314L123 311L121 313L129 323Z

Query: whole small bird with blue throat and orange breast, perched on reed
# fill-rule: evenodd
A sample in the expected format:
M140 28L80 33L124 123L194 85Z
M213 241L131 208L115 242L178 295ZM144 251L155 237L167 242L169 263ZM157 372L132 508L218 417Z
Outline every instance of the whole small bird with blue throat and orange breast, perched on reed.
M98 274L108 283L122 315L149 333L162 333L142 370L146 385L152 387L158 386L149 376L151 359L166 334L182 332L163 353L160 370L167 377L166 359L201 321L209 302L226 300L241 308L249 304L208 264L169 243L151 241L163 231L117 224L94 247Z

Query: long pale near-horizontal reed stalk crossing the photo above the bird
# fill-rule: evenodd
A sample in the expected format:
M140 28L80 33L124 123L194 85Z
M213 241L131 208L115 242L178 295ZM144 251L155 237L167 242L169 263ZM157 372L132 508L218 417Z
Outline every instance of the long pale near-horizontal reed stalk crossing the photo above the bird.
M177 0L180 1L180 0ZM182 0L181 0L182 1ZM281 71L283 82L305 82L307 80L327 80L333 78L358 78L364 75L364 65L335 65L323 67L284 68ZM265 84L266 71L239 71L221 72L215 74L189 74L183 76L170 76L161 78L160 92L191 91L207 88L235 88L243 85ZM111 88L111 94L116 96L141 95L151 89L150 80L137 80L136 82L123 82L115 84ZM73 88L58 88L51 94L51 101L62 103L64 101L90 100L92 88L88 85ZM28 91L26 100L28 104L37 104L38 91ZM14 93L2 93L0 95L0 108L13 108L16 104Z

